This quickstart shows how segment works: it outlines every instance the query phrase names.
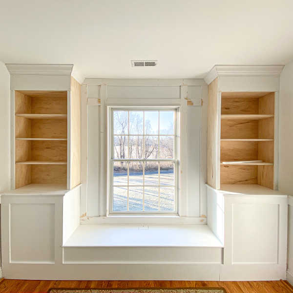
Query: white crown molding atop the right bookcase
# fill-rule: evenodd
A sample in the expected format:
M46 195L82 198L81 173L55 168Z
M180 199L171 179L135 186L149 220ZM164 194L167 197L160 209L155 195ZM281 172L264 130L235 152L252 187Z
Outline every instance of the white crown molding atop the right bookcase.
M218 76L280 76L284 65L215 65L204 78L210 84Z

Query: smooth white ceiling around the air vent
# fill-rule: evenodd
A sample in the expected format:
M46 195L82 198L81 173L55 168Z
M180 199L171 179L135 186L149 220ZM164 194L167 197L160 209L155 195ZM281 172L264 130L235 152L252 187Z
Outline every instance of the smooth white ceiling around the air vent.
M87 78L203 78L215 64L291 60L293 0L0 0L4 63L72 63Z

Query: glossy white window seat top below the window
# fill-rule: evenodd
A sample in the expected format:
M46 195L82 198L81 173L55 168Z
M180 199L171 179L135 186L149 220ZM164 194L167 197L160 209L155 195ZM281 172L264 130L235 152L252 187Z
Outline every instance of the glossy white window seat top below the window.
M63 247L223 247L208 225L79 225Z

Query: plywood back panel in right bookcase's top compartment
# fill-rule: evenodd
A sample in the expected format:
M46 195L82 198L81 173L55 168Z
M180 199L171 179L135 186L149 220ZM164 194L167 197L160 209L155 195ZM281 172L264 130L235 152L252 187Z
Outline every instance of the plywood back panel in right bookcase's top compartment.
M223 98L221 114L258 114L258 98Z

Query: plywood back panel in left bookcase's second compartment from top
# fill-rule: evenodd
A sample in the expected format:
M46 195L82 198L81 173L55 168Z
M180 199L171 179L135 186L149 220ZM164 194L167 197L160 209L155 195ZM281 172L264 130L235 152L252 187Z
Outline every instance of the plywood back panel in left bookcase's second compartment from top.
M31 125L32 138L67 138L65 119L33 119Z

